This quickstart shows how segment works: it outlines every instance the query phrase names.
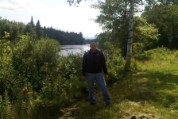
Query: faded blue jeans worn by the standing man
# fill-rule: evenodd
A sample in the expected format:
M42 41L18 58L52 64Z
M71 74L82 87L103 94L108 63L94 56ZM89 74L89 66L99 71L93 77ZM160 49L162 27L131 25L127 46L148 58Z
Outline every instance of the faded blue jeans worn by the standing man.
M99 88L102 91L103 94L103 100L105 103L110 103L110 97L109 92L106 86L105 79L102 75L102 73L87 73L87 79L88 79L88 91L89 91L89 101L90 103L95 103L96 98L94 94L94 81L96 80Z

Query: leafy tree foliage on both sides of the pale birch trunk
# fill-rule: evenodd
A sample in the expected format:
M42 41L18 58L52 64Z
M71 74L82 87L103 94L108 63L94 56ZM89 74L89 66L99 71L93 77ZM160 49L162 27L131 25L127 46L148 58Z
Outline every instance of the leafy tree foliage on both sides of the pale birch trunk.
M138 3L138 2L136 2ZM111 41L126 56L128 39L128 1L105 1L96 5L101 12L96 22L107 31L98 35L98 40ZM146 19L134 17L133 54L140 53L156 46L158 29Z

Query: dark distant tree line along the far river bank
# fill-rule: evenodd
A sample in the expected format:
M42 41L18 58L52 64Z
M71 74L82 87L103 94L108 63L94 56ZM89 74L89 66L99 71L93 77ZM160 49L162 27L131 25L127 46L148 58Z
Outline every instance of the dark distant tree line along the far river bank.
M39 20L34 24L33 17L28 24L0 18L0 38L7 35L11 41L18 40L21 35L28 35L36 40L41 38L55 39L61 45L85 43L81 32L65 32L52 27L41 27Z

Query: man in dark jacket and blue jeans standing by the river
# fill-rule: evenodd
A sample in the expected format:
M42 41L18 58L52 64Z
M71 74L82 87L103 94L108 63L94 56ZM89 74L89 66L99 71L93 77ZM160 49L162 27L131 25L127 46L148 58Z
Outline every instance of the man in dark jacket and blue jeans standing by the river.
M90 44L90 50L83 56L83 76L88 80L89 88L89 101L91 105L96 103L94 95L94 81L96 80L103 94L103 100L106 105L110 104L109 92L106 86L105 79L102 71L105 74L105 78L108 77L108 71L106 68L105 57L101 51L96 48L96 43Z

